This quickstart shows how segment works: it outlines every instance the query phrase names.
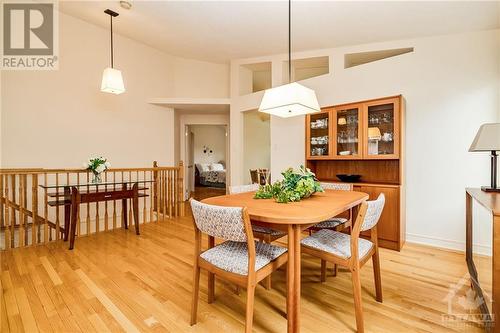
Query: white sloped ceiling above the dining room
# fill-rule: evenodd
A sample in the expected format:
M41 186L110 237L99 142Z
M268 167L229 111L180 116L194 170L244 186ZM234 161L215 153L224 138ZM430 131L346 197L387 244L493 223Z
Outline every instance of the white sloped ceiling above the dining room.
M287 50L287 1L61 1L60 10L169 54L213 62ZM293 1L293 50L500 27L500 1Z

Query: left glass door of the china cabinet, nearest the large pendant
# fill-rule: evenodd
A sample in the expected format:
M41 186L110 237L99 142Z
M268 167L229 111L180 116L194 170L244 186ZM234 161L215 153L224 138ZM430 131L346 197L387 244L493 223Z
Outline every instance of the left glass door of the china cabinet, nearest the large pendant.
M311 114L309 118L309 156L326 158L330 154L330 112Z

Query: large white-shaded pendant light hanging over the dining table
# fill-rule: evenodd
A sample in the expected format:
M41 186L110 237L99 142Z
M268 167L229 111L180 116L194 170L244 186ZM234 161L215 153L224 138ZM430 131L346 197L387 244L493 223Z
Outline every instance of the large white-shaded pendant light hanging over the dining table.
M259 111L282 118L321 111L314 90L292 82L292 3L288 0L288 84L267 89Z

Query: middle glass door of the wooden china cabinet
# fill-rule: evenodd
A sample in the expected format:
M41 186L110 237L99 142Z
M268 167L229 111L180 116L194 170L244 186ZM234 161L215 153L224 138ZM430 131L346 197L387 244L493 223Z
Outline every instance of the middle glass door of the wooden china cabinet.
M354 158L360 155L360 108L350 106L335 112L335 158Z

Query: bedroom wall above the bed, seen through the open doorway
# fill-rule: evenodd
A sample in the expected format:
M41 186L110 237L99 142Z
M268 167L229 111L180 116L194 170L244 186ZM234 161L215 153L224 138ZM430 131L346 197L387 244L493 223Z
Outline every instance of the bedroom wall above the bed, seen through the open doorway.
M226 126L191 125L189 130L194 134L194 163L226 164Z

